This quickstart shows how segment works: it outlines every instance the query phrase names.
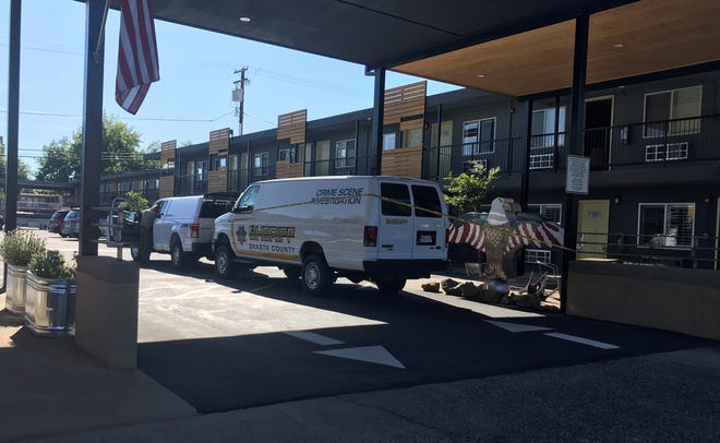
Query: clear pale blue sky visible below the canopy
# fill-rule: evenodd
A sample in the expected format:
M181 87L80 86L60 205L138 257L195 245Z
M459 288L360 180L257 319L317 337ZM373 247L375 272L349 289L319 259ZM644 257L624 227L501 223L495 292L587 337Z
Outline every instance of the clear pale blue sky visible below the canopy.
M0 0L0 136L8 141L10 0ZM364 67L252 40L155 21L160 81L135 116L115 101L120 13L110 10L105 34L103 106L141 134L141 148L177 140L202 143L211 131L238 134L233 71L248 67L243 133L277 127L277 116L308 109L316 120L373 105ZM19 155L31 168L43 146L82 124L85 4L23 0L21 24ZM387 88L421 79L388 72ZM428 82L428 95L457 88Z

